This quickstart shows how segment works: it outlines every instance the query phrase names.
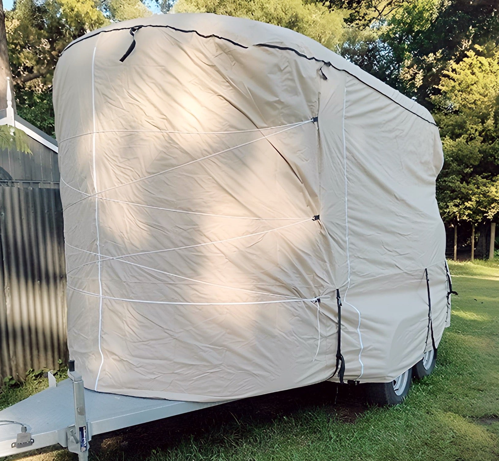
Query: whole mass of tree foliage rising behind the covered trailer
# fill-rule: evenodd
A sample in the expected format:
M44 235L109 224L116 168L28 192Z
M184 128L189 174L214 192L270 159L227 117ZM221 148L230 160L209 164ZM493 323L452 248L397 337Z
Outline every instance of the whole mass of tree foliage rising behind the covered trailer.
M52 76L64 47L109 22L167 12L173 0L16 0L6 14L18 113L53 133ZM432 110L445 165L444 220L499 215L497 0L177 0L288 27L341 53Z

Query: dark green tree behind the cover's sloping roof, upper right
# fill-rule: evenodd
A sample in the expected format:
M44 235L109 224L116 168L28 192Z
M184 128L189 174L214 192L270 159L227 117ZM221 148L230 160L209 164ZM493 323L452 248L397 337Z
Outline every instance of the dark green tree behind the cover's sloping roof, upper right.
M341 54L429 108L448 63L499 34L497 0L338 1L358 11Z

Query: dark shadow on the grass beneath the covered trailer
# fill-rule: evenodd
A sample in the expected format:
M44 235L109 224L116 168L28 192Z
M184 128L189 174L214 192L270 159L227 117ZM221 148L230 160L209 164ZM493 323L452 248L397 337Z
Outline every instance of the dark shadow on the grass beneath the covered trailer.
M114 459L119 452L123 452L125 459L140 458L142 452L146 455L152 448L171 450L189 439L196 439L198 443L209 440L211 444L217 443L217 439L220 442L233 437L242 439L255 427L264 430L278 420L318 410L338 422L355 423L367 410L363 402L358 388L320 383L95 436L91 450L98 459L105 459L107 455Z

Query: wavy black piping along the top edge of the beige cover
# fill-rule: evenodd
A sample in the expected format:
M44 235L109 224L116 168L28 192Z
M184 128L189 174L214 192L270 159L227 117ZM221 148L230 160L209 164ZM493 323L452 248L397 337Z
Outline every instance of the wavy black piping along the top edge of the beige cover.
M139 25L135 25L135 26L132 26L132 27L117 27L115 29L101 30L101 31L93 33L91 35L83 36L81 39L69 43L69 45L67 45L62 50L62 52L66 51L71 46L75 45L76 43L79 43L80 41L86 40L87 38L95 37L96 35L99 35L100 33L113 32L115 30L131 30L131 29L137 29L137 28L143 28L143 27L160 27L160 28L162 27L162 28L172 29L172 30L175 30L177 32L195 33L195 34L197 34L197 35L199 35L200 37L203 37L203 38L218 38L220 40L228 41L229 43L232 43L233 45L240 46L241 48L245 48L245 49L249 48L249 46L246 46L246 45L243 45L241 43L238 43L238 42L236 42L234 40L231 40L230 38L222 37L220 35L215 35L215 34L203 35L202 33L198 32L197 30L194 30L194 29L193 30L179 29L177 27L173 27L171 25L166 25L166 24L165 25L160 25L160 24L142 24L141 25L141 24L139 24ZM366 83L365 81L363 81L362 79L360 79L359 77L357 77L356 75L352 74L351 72L348 72L348 70L336 67L336 66L334 66L329 61L324 61L323 59L316 58L315 56L307 56L306 54L300 53L298 50L295 50L294 48L291 48L289 46L272 45L272 44L269 44L269 43L257 43L257 44L255 44L253 46L261 46L261 47L266 47L266 48L276 48L276 49L280 49L280 50L283 50L283 51L292 51L293 53L297 54L298 56L303 57L305 59L308 59L309 61L322 62L322 63L324 63L324 65L330 66L333 69L339 70L340 72L347 73L348 75L350 75L353 78L357 79L359 82L362 82L364 85L368 86L369 88L371 88L374 91L376 91L377 93L385 96L387 99L389 99L390 101L394 102L398 106L402 107L402 109L405 109L408 112L410 112L411 114L416 115L416 117L419 117L420 119L424 120L425 122L429 123L430 125L437 126L437 124L435 122L430 122L430 120L427 120L425 117L423 117L423 116L417 114L416 112L413 112L411 109L408 109L407 107L403 106L400 102L395 101L395 99L392 99L390 96L386 95L382 91L380 91L380 90L374 88L373 86L369 85L368 83Z

